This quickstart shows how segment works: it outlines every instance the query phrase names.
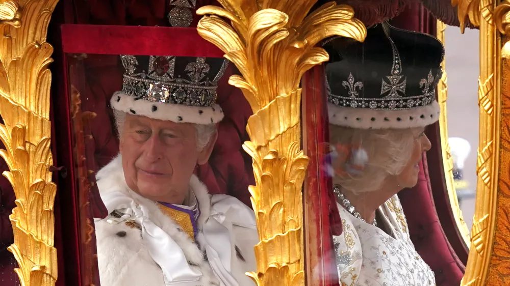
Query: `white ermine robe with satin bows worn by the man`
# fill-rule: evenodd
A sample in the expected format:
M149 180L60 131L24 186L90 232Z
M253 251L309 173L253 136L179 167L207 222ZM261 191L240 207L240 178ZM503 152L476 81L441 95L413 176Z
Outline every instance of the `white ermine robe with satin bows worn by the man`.
M187 214L170 216L162 204L127 187L120 155L96 178L110 213L94 221L101 285L254 285L244 273L257 268L256 220L237 198L209 195L193 175L190 191L198 217L190 236L178 223Z

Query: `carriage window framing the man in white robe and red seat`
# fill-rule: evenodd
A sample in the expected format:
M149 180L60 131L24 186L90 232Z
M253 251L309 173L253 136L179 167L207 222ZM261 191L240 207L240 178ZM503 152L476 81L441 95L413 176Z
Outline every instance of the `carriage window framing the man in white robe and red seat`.
M101 284L253 284L254 182L242 150L251 108L227 83L235 67L84 53L67 62L72 174L81 224L94 228L82 230L82 259L97 253Z

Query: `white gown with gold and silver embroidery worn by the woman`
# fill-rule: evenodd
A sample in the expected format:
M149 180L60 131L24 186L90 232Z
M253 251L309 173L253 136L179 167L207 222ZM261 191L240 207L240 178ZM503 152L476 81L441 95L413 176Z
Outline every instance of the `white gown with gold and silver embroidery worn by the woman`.
M343 233L334 236L337 269L342 286L436 285L434 273L416 252L409 237L405 216L397 195L379 207L391 236L363 222L341 205Z

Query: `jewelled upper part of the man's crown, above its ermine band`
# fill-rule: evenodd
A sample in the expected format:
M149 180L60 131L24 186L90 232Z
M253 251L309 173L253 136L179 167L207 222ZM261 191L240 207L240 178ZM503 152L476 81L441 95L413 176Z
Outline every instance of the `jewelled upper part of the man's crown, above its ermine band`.
M121 55L122 92L152 102L212 106L228 61L221 58Z

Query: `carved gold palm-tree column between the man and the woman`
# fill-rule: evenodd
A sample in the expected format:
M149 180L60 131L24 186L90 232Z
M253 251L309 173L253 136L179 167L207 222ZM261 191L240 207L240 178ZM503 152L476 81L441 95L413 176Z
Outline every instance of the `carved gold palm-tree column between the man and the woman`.
M250 186L260 242L257 285L304 285L301 187L308 157L300 148L299 83L305 71L328 60L316 47L338 35L363 41L366 28L349 6L327 3L307 16L316 0L219 0L197 10L198 33L225 52L242 76L240 88L253 116L246 127L256 185ZM226 22L222 18L230 20ZM325 96L325 95L324 95Z

